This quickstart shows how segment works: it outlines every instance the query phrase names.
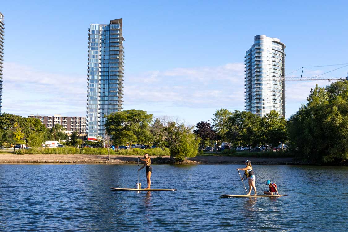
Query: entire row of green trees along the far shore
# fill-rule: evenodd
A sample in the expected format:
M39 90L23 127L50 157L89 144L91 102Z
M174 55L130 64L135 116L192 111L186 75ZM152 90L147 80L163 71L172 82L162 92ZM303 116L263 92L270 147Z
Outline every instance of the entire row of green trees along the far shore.
M288 120L277 111L264 117L251 112L218 109L210 121L189 126L183 120L153 118L142 110L124 110L110 114L105 127L113 145L154 143L168 147L171 159L194 157L198 147L230 142L233 146L287 144L287 152L309 163L343 163L348 160L348 81L311 89L307 103ZM55 139L54 139L55 138ZM45 140L67 140L66 144L81 144L77 133L70 138L57 124L47 129L40 120L18 115L0 115L0 142L15 144L24 141L38 147ZM86 142L90 143L90 142ZM102 145L102 143L100 144ZM131 146L130 146L131 147Z

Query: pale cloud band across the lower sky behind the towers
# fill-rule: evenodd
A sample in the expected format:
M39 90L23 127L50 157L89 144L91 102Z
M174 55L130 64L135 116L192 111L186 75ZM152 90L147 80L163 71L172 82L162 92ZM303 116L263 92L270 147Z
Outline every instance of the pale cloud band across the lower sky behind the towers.
M86 75L47 73L14 63L4 66L3 112L22 116L86 115ZM306 76L321 72L315 70ZM320 86L330 83L286 81L286 117L306 102L316 82ZM244 64L126 74L124 108L169 116L176 116L180 111L180 115L185 115L181 117L191 117L192 122L211 118L214 109L244 110Z

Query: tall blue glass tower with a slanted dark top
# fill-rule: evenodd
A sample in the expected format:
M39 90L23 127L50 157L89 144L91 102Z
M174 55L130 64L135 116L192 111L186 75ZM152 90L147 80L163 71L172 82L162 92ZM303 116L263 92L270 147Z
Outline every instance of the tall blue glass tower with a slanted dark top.
M87 134L105 137L106 117L122 110L122 18L90 24L87 65Z

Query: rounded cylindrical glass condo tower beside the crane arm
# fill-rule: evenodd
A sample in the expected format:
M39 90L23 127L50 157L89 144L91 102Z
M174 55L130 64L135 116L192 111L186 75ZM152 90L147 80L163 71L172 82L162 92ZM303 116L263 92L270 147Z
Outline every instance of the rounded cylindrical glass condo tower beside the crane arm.
M275 110L285 117L285 45L266 35L254 40L245 53L245 111L263 117Z

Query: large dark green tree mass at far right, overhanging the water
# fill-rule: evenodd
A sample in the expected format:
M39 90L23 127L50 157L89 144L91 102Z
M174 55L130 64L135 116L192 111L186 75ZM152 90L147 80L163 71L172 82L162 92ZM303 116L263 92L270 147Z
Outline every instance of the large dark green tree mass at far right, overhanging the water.
M341 163L348 159L348 81L310 91L287 123L289 149L311 163Z

